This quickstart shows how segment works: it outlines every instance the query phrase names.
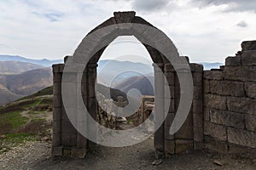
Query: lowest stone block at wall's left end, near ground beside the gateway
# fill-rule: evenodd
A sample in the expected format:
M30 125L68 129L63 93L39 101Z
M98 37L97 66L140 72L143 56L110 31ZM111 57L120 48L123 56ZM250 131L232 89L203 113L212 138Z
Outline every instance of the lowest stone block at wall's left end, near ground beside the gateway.
M224 141L220 141L220 140L205 136L205 148L208 150L218 151L220 153L227 153L229 146Z

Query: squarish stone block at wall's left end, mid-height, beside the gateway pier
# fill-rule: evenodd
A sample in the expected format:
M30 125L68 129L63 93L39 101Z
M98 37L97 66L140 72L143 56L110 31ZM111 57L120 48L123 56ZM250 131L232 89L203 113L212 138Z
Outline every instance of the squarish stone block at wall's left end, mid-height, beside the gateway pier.
M205 94L205 106L212 109L226 110L226 97L214 94Z

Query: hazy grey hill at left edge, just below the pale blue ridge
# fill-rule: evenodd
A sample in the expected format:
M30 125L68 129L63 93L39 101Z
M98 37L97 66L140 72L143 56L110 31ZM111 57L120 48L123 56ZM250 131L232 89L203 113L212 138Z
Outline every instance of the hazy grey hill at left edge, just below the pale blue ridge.
M0 61L0 74L16 74L42 68L42 65L20 61Z

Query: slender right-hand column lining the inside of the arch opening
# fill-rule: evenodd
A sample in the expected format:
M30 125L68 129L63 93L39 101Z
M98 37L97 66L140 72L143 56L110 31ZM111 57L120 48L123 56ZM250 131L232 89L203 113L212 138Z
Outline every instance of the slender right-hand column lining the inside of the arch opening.
M165 108L165 87L164 87L164 65L163 64L153 64L154 66L154 123L159 125L159 120L164 118L164 108ZM155 156L157 159L163 156L165 150L164 142L164 124L154 133L154 149Z

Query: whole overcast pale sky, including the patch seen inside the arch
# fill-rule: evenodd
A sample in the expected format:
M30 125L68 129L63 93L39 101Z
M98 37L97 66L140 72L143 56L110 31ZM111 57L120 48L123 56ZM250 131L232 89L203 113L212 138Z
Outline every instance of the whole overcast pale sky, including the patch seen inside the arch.
M0 54L62 59L114 11L128 10L164 31L192 61L224 62L242 41L256 39L254 0L0 0ZM147 55L136 41L120 37L104 58ZM129 48L113 50L122 47Z

